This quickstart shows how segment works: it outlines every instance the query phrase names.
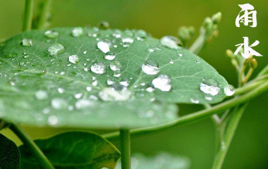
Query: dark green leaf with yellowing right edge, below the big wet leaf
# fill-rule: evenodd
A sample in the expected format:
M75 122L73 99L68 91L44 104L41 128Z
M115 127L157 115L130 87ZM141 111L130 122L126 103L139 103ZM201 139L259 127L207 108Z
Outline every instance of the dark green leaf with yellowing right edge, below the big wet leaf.
M120 159L112 143L92 132L64 132L35 143L55 168L114 168ZM41 168L26 146L19 149L21 168Z

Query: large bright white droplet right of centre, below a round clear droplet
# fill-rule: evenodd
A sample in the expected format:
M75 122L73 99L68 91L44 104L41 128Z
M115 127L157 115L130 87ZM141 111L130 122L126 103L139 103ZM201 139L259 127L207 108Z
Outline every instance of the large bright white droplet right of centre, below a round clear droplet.
M171 90L171 79L168 75L161 74L158 75L154 80L152 80L152 85L154 88L158 88L162 91L168 92Z

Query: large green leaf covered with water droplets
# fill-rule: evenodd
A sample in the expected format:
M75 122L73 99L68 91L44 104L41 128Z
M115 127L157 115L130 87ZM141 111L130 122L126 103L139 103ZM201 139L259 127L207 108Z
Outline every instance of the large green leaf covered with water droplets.
M225 97L223 87L227 85L226 80L204 60L181 47L170 49L161 45L158 39L143 36L142 40L137 40L135 35L131 37L135 39L133 43L122 45L120 38L112 36L118 30L112 29L99 30L88 36L92 29L84 28L80 34L81 28L77 28L74 35L78 37L72 36L72 30L55 28L53 31L59 35L51 34L55 36L53 39L47 38L45 31L24 32L1 45L0 118L38 126L137 128L177 118L174 103L192 103L193 100L197 100L196 103L216 103ZM128 30L122 36L131 32L141 33ZM95 35L97 37L93 37ZM113 45L117 45L110 50L115 53L114 60L122 65L120 77L113 76L114 71L109 66L111 60L105 59L105 54L97 50L97 43L103 38L109 38ZM53 44L63 45L65 51L51 54L47 49ZM71 55L78 55L79 59L72 61L77 64L68 61ZM146 60L159 64L157 75L142 71ZM102 62L107 73L92 72L90 67L95 62ZM148 92L146 89L160 74L170 77L171 91L156 88ZM92 85L95 78L98 85ZM108 78L114 78L116 84L129 81L127 92L111 91ZM206 100L207 94L199 89L200 83L207 79L216 80L221 88L211 100ZM119 101L103 101L99 97L103 92L110 97L102 99Z

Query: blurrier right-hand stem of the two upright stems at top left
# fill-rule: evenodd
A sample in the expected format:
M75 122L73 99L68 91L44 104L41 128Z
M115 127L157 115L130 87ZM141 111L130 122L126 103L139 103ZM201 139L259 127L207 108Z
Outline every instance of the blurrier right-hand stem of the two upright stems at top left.
M51 0L45 0L38 18L37 29L43 29L46 27L47 13L50 9Z

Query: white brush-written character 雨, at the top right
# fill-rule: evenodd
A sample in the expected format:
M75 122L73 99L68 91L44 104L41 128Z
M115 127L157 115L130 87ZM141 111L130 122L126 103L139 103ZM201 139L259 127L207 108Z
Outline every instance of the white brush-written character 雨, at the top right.
M241 22L241 23L244 23L245 26L248 26L248 23L252 22L252 25L250 27L256 27L257 26L257 11L253 10L254 6L250 5L249 3L239 5L239 6L242 10L239 12L238 16L236 17L235 25L237 27L240 27L239 22ZM248 12L248 10L253 10L253 11ZM243 11L244 11L244 15L240 16L240 13ZM252 17L249 16L250 14L252 14Z

